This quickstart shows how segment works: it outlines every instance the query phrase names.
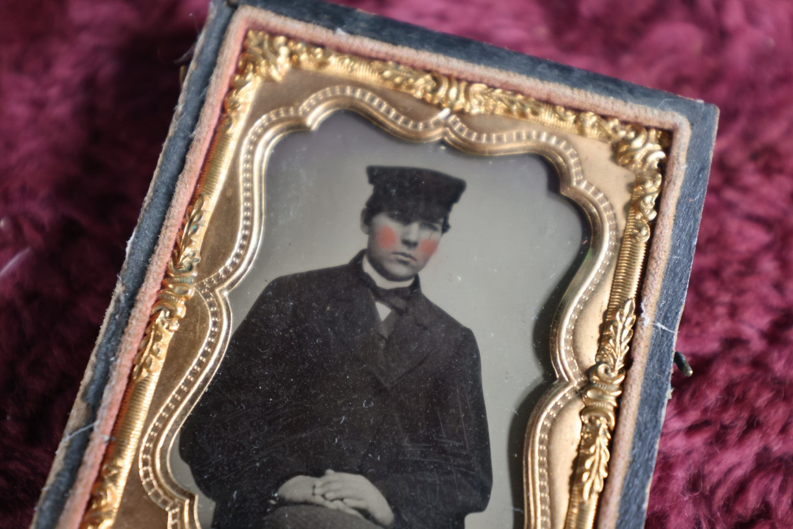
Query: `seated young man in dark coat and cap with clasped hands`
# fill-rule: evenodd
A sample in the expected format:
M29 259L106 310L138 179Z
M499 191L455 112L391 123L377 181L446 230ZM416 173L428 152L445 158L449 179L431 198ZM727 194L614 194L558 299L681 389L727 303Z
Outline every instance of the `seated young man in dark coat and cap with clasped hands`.
M476 339L418 275L465 182L366 171L366 248L270 282L182 427L212 527L462 529L488 504Z

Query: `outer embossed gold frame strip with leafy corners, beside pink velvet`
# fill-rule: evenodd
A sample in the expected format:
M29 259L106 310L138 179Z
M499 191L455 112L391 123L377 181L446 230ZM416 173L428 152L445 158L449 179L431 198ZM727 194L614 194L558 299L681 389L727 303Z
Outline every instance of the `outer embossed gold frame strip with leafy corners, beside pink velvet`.
M188 208L174 244L174 255L133 363L125 398L113 427L113 440L108 443L81 527L105 529L113 526L170 339L178 330L179 320L185 316L186 302L195 291L193 279L200 261L205 226L220 193L220 185L231 167L242 125L247 121L261 83L281 82L291 68L398 90L455 113L514 117L606 142L613 148L615 162L636 175L596 364L588 371L588 384L581 393L584 409L580 412L579 454L565 519L567 529L593 527L608 475L609 443L616 424L619 397L623 393L625 363L636 321L635 298L650 237L650 223L656 217L655 202L661 189L660 167L665 161L668 134L623 123L616 118L538 101L481 82L420 71L392 61L352 56L259 30L249 30L245 36L236 73L224 97L224 111L201 172L197 186L199 194ZM528 517L526 522L529 523Z

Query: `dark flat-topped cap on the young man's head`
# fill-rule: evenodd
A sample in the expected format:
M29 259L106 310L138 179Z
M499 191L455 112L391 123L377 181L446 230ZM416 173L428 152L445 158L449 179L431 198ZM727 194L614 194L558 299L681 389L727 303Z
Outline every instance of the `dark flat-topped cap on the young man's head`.
M465 180L420 167L366 167L373 195L399 209L449 214L465 191Z

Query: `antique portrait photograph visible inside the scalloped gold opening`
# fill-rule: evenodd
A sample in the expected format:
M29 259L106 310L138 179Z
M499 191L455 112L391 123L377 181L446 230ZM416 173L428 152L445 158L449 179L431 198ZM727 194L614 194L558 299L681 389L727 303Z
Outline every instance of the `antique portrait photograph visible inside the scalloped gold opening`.
M553 168L339 112L263 177L262 242L178 443L207 527L522 519L551 316L588 249Z

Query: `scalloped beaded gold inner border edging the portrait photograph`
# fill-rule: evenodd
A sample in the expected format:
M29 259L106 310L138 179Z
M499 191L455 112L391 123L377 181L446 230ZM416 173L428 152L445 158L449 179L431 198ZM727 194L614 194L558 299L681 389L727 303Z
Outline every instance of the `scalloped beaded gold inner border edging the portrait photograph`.
M233 289L250 266L255 244L252 240L261 229L261 220L257 214L260 209L258 201L263 196L259 189L259 176L266 167L266 159L274 144L285 131L311 130L320 125L325 117L337 110L354 110L370 118L393 135L405 140L433 141L442 139L462 151L471 154L519 154L533 152L549 159L560 176L561 192L572 198L590 217L592 224L592 248L601 256L592 259L579 270L580 277L588 277L588 282L569 293L564 314L561 316L561 327L572 332L575 322L583 309L582 300L595 289L603 278L607 268L613 263L616 247L617 223L611 203L607 198L588 182L583 175L580 158L575 148L558 136L537 129L504 132L501 134L485 134L466 126L454 113L442 109L434 117L425 121L413 121L404 116L388 102L370 90L352 85L331 85L308 96L304 102L291 107L274 109L260 117L248 129L239 153L241 170L239 171L239 189L242 190L240 218L243 226L230 257L224 266L214 270L209 277L197 285L197 292L213 314L209 322L209 338L205 346L194 358L186 375L174 389L170 397L149 421L149 427L140 448L138 468L144 490L151 500L167 510L169 527L196 527L196 498L184 489L170 474L170 447L174 443L176 431L190 413L193 405L209 384L213 373L219 366L224 354L224 344L228 341L228 318L230 308L226 293ZM258 153L258 154L257 154ZM245 219L248 219L247 221ZM551 351L554 362L560 363L560 382L564 392L557 395L557 402L567 404L571 401L580 385L583 384L580 367L574 370L565 369L573 359L573 345L565 332L560 342ZM577 376L575 376L577 374ZM544 409L542 420L531 423L527 430L527 439L531 435L534 440L538 436L548 435L551 423L560 408ZM537 479L529 481L535 498L527 512L533 518L540 519L541 512L549 508L550 497L541 493L547 485L547 459L538 458L535 469ZM536 513L536 516L534 516ZM546 516L547 518L547 516Z

